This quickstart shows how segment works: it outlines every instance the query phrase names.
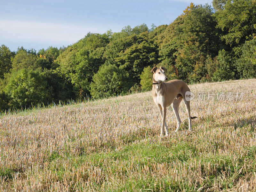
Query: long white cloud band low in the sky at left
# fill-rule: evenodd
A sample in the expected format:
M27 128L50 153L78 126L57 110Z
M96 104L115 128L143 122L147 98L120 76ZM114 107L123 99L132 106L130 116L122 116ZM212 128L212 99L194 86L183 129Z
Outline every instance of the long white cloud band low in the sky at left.
M83 38L89 31L104 33L111 25L106 24L72 24L27 20L0 19L0 42L17 41L33 43L73 44ZM122 27L112 26L113 31Z

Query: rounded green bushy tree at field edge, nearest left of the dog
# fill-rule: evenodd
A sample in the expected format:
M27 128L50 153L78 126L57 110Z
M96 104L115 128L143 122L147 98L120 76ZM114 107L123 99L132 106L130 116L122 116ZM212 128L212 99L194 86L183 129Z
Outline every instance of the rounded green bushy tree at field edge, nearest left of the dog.
M93 98L102 98L125 94L132 86L124 70L114 65L103 65L91 83Z

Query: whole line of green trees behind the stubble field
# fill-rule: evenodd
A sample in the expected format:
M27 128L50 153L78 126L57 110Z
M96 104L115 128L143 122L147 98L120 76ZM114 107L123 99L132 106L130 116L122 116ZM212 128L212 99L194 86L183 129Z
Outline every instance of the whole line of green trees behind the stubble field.
M153 66L187 83L256 77L256 0L191 3L169 25L88 33L38 52L0 47L0 110L147 91Z

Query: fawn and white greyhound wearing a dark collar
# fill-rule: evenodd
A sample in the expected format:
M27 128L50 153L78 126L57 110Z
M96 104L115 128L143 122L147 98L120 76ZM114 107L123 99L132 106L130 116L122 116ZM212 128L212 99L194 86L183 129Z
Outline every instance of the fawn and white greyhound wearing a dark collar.
M162 118L162 128L161 128L161 136L168 136L168 127L165 122L166 118L166 108L172 104L173 113L177 118L177 128L175 133L180 128L180 116L179 116L179 105L183 98L186 105L186 112L188 114L188 130L191 132L191 119L196 118L190 116L190 100L191 100L191 92L188 88L188 85L181 80L171 80L168 82L167 77L164 75L164 71L166 68L164 67L154 67L151 72L153 72L153 84L152 84L152 95L156 106L159 108L161 118ZM187 99L188 98L188 99ZM190 98L190 99L189 99Z

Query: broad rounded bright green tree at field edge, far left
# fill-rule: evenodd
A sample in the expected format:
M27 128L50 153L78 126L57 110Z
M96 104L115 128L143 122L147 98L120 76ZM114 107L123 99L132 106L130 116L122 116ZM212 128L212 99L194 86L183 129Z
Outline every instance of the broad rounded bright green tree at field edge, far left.
M51 101L46 78L39 71L29 69L20 69L13 73L4 92L10 98L10 106L14 108L47 104Z

